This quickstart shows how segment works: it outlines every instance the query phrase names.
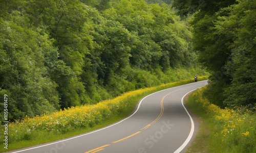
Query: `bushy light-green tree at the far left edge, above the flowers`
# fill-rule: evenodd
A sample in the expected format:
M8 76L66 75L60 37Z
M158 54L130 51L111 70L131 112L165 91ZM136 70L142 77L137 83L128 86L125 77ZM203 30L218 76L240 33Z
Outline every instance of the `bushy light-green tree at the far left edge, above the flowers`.
M9 119L58 109L57 85L49 78L40 47L48 40L11 21L1 20L0 31L0 89L10 97Z

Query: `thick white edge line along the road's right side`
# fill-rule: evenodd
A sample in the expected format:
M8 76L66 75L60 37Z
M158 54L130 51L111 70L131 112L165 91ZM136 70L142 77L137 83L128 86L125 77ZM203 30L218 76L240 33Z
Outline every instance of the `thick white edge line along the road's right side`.
M199 88L201 88L201 87L199 87ZM199 89L199 88L197 88L197 89ZM197 89L194 89L194 90L197 90ZM194 90L191 90L191 91L189 91L188 93L190 93L190 92L192 92L192 91L194 91ZM186 94L182 97L182 99L181 99L181 104L182 104L182 106L184 107L185 111L187 112L187 114L188 114L188 116L189 116L189 118L190 118L190 121L191 121L191 129L190 129L190 133L189 133L187 139L185 140L185 142L184 142L174 153L179 153L180 151L182 151L182 150L186 147L186 145L189 143L189 141L190 141L190 139L192 138L193 133L194 133L194 131L195 131L195 124L194 124L193 118L190 116L190 114L188 113L187 109L185 108L185 106L184 106L184 104L183 104L184 97L185 97L188 93L186 93Z

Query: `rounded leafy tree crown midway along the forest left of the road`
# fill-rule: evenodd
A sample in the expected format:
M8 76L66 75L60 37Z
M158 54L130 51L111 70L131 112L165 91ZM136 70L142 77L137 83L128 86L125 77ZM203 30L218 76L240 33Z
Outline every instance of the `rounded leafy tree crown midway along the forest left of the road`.
M101 66L98 68L98 79L106 85L110 72L117 72L129 65L131 34L119 22L107 20L95 27L94 41L100 50Z

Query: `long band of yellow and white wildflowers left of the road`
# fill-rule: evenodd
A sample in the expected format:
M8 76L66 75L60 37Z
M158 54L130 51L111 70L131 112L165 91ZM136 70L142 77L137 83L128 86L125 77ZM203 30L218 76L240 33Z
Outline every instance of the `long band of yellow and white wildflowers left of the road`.
M122 113L126 109L127 105L130 105L129 99L135 96L142 95L148 91L155 91L180 84L186 84L191 81L193 80L139 89L136 91L126 92L114 99L101 101L95 105L71 107L33 118L26 117L24 120L9 124L10 133L15 134L15 137L10 138L10 142L29 140L34 131L49 131L61 134L72 131L73 129L92 127L100 121ZM0 135L0 137L2 136Z

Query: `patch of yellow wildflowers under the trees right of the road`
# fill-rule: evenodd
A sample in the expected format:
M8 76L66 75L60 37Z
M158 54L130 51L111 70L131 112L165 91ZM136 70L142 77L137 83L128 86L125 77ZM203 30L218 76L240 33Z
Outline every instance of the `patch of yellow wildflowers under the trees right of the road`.
M202 97L202 92L207 87L198 89L193 93L193 96L197 98L196 103L201 103L204 110L207 113L212 114L215 119L216 125L221 125L220 131L214 132L215 136L222 135L224 138L227 135L236 134L240 136L250 136L249 130L255 132L255 127L252 124L254 118L250 117L253 114L251 110L245 109L243 107L234 107L233 109L221 109L220 107L210 104L209 100ZM224 139L223 138L223 139Z

